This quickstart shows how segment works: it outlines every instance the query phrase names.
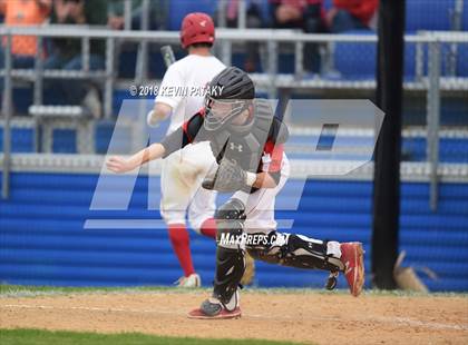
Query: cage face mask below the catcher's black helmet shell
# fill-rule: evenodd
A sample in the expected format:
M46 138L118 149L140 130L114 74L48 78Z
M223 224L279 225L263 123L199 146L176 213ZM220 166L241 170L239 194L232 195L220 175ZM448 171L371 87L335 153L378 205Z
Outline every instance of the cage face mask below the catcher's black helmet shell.
M218 130L225 124L248 108L250 100L245 99L214 99L205 97L205 121L203 126L206 130Z

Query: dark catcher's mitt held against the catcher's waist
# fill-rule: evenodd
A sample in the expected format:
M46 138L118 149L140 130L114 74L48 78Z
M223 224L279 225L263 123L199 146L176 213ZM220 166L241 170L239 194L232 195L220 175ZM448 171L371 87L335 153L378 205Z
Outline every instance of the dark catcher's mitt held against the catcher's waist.
M245 180L246 172L241 167L227 159L223 159L216 174L212 177L206 177L202 186L205 189L231 193L247 187Z

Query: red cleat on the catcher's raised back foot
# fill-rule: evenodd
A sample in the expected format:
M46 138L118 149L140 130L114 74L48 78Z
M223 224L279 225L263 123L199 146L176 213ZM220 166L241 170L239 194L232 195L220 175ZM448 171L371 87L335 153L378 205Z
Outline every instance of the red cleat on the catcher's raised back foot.
M358 297L364 285L364 250L359 241L344 243L340 246L341 262L344 265L344 276L347 277L351 295Z

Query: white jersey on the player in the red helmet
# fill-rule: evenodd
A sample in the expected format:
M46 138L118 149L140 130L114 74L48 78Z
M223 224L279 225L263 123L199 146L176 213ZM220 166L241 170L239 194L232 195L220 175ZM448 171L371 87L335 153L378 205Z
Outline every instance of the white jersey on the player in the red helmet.
M155 100L173 108L167 134L176 130L203 107L204 88L225 68L217 58L198 55L188 55L169 66Z

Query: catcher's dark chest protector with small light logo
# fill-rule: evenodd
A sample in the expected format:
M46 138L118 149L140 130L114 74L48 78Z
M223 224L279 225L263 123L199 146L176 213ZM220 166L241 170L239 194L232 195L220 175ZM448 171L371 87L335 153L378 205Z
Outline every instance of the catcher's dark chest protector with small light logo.
M255 100L254 119L250 126L228 127L211 139L216 160L228 159L242 169L256 172L273 122L273 111L265 100Z

